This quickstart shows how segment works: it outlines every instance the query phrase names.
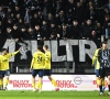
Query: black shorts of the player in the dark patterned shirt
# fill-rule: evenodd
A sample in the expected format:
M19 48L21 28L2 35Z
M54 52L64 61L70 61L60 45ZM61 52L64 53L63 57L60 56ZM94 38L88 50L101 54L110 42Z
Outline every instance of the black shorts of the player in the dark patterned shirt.
M99 76L100 76L100 78L105 78L105 77L110 76L110 67L100 68Z

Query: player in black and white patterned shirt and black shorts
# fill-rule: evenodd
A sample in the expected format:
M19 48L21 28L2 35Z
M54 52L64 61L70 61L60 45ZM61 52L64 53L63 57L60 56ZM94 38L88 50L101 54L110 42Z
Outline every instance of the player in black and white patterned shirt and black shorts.
M108 50L107 42L102 42L102 48L99 51L98 59L100 63L100 68L99 68L100 95L103 95L102 81L105 77L108 77L108 88L109 88L108 95L110 95L110 50Z

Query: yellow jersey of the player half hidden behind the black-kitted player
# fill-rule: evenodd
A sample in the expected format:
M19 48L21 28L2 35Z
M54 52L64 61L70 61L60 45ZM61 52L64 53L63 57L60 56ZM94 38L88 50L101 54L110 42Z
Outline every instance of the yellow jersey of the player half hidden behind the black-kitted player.
M95 52L95 55L92 57L92 64L95 64L95 68L96 69L99 69L100 68L100 63L98 61L98 53L101 48L97 48L96 52Z

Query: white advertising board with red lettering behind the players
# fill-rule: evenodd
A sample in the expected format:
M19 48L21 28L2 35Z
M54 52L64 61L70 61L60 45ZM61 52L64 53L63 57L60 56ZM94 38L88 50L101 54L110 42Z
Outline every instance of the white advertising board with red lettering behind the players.
M98 90L95 75L53 75L52 77L56 80L61 90ZM31 75L11 75L8 89L32 90L31 80ZM43 90L54 90L54 86L47 77L43 77Z

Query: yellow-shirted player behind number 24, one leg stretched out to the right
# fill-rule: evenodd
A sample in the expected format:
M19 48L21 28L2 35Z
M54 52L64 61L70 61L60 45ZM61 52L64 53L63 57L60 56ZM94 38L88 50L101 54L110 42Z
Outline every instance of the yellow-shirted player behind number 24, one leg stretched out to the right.
M55 90L59 90L59 88L57 87L56 81L52 78L52 73L51 73L51 52L48 51L48 46L44 45L43 50L45 52L45 65L44 65L44 76L47 76L48 79L52 81L52 84L55 87Z

